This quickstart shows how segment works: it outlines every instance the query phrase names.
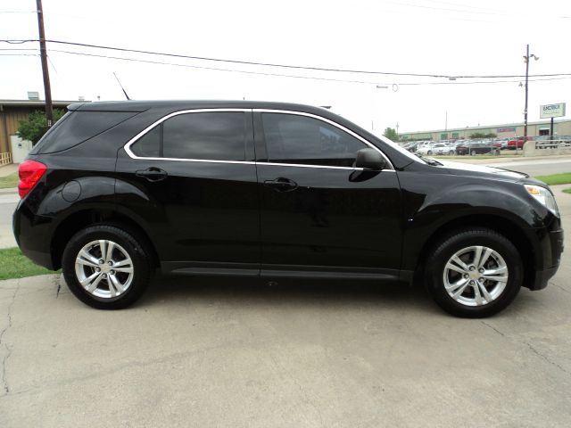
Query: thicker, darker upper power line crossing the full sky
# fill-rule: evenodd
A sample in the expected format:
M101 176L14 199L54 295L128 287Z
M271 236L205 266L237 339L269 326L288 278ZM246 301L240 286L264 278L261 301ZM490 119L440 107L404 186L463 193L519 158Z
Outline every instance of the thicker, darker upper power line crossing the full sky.
M31 43L37 42L36 39L28 39L28 40L0 40L0 42L10 43L10 44L23 44L23 43ZM301 65L288 65L288 64L277 64L271 62L252 62L252 61L240 61L240 60L228 60L228 59L221 59L221 58L211 58L211 57L204 57L204 56L193 56L193 55L185 55L181 53L161 53L161 52L154 52L154 51L144 51L139 49L128 49L123 47L114 47L114 46L103 46L103 45L91 45L86 43L76 43L76 42L65 42L62 40L46 40L48 43L60 44L60 45L73 45L73 46L80 46L80 47L89 47L95 49L105 49L111 51L119 51L119 52L128 52L128 53L143 53L148 55L159 55L159 56L168 56L174 58L184 58L190 60L198 60L198 61L211 61L211 62L228 62L232 64L242 64L242 65L256 65L261 67L275 67L275 68L282 68L282 69L290 69L290 70L310 70L310 71L328 71L328 72L341 72L341 73L353 73L353 74L366 74L366 75L381 75L381 76L402 76L402 77L417 77L417 78L524 78L524 75L445 75L445 74L422 74L422 73L398 73L398 72L389 72L389 71L372 71L372 70L351 70L351 69L332 69L332 68L325 68L325 67L310 67L310 66L301 66ZM534 78L548 78L548 77L558 77L558 76L571 76L571 73L552 73L552 74L534 74Z

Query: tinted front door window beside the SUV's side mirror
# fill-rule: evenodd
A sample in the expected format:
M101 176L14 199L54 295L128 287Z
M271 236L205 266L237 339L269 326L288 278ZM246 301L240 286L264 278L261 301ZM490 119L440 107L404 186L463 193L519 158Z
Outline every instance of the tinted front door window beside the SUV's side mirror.
M352 167L367 147L319 119L284 113L262 113L261 119L270 162Z

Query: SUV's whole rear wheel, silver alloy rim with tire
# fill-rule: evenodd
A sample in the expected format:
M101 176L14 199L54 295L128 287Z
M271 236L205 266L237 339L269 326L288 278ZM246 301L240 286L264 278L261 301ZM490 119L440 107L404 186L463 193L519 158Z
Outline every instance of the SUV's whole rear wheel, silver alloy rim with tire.
M70 291L97 309L121 309L137 300L149 282L151 259L142 240L117 226L80 230L63 251Z

